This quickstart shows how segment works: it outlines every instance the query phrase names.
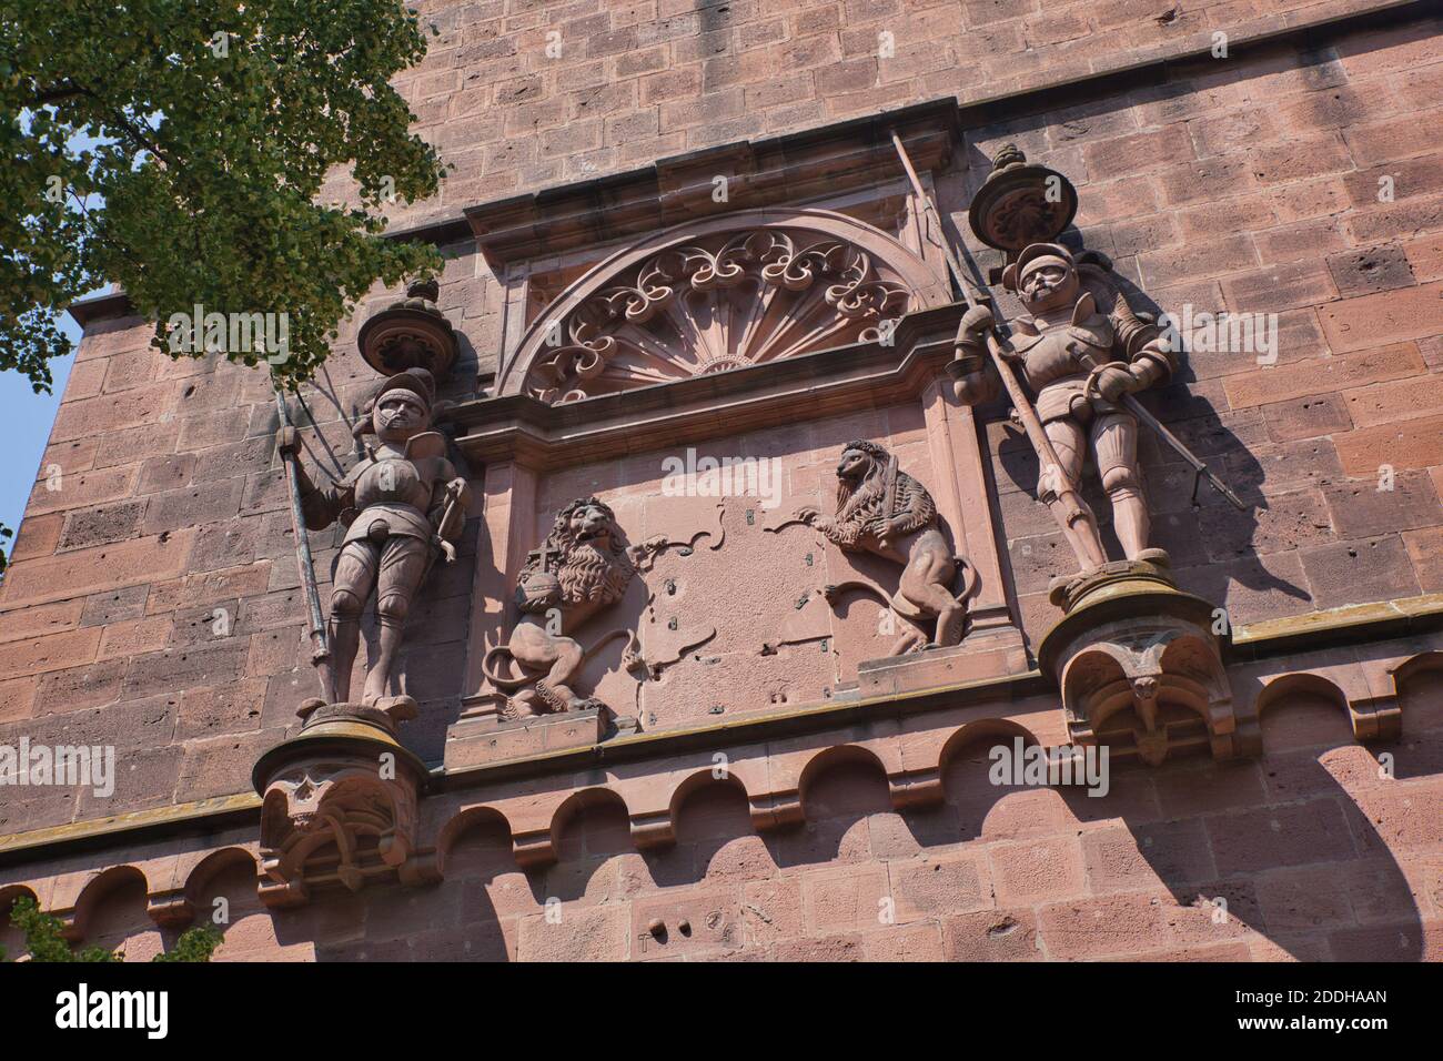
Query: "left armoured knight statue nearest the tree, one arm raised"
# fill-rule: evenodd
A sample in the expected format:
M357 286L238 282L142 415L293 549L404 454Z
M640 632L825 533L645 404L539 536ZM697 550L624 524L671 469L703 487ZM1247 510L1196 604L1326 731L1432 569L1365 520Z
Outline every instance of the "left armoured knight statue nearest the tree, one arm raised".
M361 614L374 592L380 651L367 668L362 703L397 717L414 715L410 697L387 696L401 626L437 554L455 554L452 543L465 525L470 497L466 479L446 459L444 437L430 430L434 391L423 368L382 383L356 426L358 439L374 435L378 445L367 445L365 456L341 482L316 486L297 462L306 527L339 523L346 528L326 624L330 658L322 681L329 703L351 696ZM281 427L276 442L283 453L294 452L296 429Z

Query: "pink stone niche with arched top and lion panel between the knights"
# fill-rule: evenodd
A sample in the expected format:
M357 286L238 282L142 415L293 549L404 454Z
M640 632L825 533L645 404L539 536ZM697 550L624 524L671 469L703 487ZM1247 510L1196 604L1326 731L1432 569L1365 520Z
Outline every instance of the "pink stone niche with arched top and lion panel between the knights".
M978 432L944 371L961 306L899 198L890 232L859 209L771 205L633 241L535 315L492 398L456 411L485 466L491 563L447 769L1029 671ZM837 512L857 440L880 447L879 505L900 511L896 484L929 495L922 515L960 557L945 577L967 609L960 644L922 651L935 622L899 593L896 557L799 518ZM548 631L569 541L554 520L593 498L629 577ZM583 661L547 673L566 639Z

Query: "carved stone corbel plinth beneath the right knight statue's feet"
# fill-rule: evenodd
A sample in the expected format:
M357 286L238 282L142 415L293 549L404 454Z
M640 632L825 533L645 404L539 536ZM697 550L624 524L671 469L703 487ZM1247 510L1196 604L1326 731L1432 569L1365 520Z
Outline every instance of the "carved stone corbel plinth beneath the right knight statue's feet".
M1149 765L1206 748L1215 759L1257 755L1255 715L1232 700L1215 609L1160 563L1123 560L1053 588L1063 618L1038 650L1062 690L1068 733Z

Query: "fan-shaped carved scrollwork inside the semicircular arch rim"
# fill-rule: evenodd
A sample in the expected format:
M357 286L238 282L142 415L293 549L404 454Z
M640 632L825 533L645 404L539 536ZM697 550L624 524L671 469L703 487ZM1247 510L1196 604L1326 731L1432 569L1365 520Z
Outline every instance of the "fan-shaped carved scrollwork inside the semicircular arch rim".
M873 342L912 306L872 256L817 232L758 228L662 250L556 328L527 391L548 403Z

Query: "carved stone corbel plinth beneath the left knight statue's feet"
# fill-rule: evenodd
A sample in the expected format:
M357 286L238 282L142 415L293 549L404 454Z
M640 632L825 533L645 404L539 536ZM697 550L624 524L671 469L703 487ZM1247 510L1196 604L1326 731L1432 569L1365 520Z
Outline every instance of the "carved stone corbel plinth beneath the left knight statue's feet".
M368 881L439 879L434 852L417 847L426 767L395 739L404 716L354 703L312 710L300 733L257 759L261 794L260 896L296 907L317 888L359 891Z

